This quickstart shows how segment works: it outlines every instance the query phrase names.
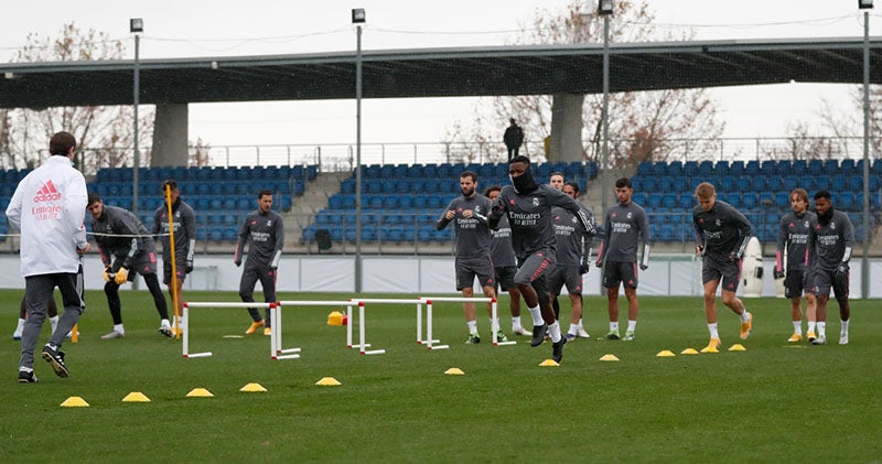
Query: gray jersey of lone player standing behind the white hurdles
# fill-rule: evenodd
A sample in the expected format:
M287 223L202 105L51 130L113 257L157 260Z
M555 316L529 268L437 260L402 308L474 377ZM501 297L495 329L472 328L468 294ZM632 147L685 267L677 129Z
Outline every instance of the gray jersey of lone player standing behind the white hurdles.
M282 217L273 211L260 213L257 209L249 213L239 228L239 241L236 244L234 259L241 259L246 242L248 242L246 267L278 267L284 246Z

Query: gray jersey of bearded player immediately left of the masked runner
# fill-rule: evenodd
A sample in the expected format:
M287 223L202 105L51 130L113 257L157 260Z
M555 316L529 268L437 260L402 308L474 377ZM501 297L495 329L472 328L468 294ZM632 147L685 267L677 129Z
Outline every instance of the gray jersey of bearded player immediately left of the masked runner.
M490 227L487 226L487 213L492 203L483 195L472 196L460 195L453 198L444 213L435 223L438 230L443 229L451 222L454 223L456 235L456 258L486 258L490 257ZM452 220L448 220L444 215L447 212L456 213ZM471 211L472 217L463 217L463 212Z

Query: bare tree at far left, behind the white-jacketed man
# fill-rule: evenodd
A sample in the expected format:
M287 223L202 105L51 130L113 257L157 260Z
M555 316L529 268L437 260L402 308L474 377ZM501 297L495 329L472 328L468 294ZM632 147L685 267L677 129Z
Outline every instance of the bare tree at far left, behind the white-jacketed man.
M83 31L74 23L65 24L56 39L42 39L32 33L26 42L14 62L119 60L125 54L123 45L110 40L107 33ZM0 111L0 155L9 169L37 165L46 153L50 137L65 130L79 143L76 160L84 173L131 165L133 114L130 106L3 110ZM153 133L153 111L140 111L139 119L139 139L149 141ZM150 150L142 150L141 163L149 165L149 162Z

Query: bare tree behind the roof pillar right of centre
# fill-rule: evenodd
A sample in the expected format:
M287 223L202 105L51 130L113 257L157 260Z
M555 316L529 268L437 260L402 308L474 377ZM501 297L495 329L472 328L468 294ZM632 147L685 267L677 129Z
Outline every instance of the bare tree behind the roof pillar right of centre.
M658 37L652 22L654 17L645 2L615 2L615 20L611 22L611 42L639 42L649 39L687 40L685 36ZM516 44L577 44L602 43L603 19L584 1L571 2L563 12L537 10L530 28L524 28ZM615 75L612 75L615 79ZM473 142L473 147L494 147L487 149L491 161L505 159L502 143L496 137L498 128L505 127L509 118L517 119L524 127L527 139L534 142L537 157L540 147L537 141L551 133L552 97L518 96L490 99L490 117L477 116L469 125L456 122L448 132L451 142ZM486 99L481 100L474 111L486 111ZM585 128L582 140L589 142L584 157L595 161L601 147L602 95L590 95L583 104ZM703 89L658 90L619 93L610 96L610 138L611 168L633 166L643 160L670 161L701 158L704 151L700 140L717 145L724 125L718 121L714 102ZM697 141L698 140L698 141ZM688 141L688 142L687 142ZM477 143L474 143L477 142ZM528 144L529 148L529 144ZM467 151L467 150L466 150ZM473 154L473 153L469 153Z

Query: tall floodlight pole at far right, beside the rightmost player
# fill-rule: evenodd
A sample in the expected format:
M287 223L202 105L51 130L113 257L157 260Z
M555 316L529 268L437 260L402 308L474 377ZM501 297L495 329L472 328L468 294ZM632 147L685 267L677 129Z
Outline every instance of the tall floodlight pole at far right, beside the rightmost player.
M870 12L873 0L858 0L863 12L863 259L861 298L870 293Z

